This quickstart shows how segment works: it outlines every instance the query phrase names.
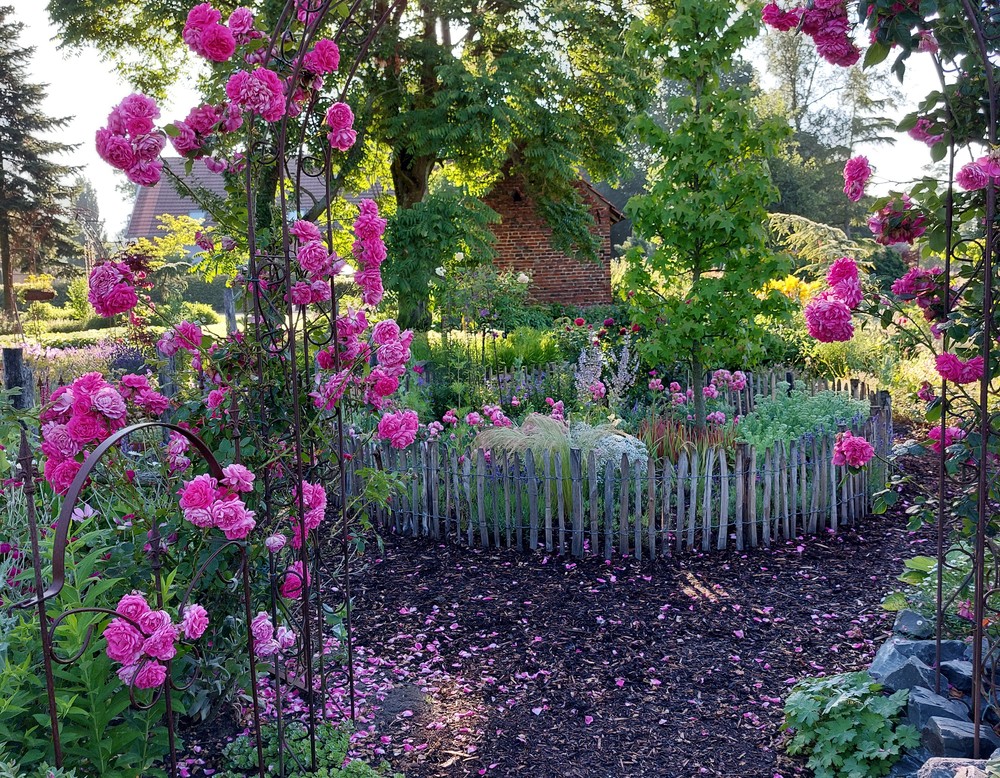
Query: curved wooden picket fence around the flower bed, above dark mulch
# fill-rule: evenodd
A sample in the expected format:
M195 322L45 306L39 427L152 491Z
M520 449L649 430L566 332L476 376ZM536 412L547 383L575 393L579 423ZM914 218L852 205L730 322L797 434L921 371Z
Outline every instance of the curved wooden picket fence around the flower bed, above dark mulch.
M837 432L863 435L885 457L892 446L888 392L859 381L842 390L869 399L864 420L816 430L788 445L682 453L676 465L626 457L599 467L598 454L536 457L459 452L436 442L396 451L354 452L349 491L362 493L358 470L381 467L405 490L388 509L373 509L384 532L481 548L516 548L574 557L603 554L655 559L685 551L737 550L851 525L866 515L873 487L886 480L876 459L864 472L833 464Z

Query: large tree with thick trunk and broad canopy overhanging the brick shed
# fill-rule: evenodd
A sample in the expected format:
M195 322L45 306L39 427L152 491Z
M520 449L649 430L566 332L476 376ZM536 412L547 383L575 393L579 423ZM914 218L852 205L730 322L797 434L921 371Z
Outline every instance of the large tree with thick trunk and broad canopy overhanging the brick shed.
M245 4L261 28L284 7L277 0ZM227 14L237 3L215 5ZM161 91L176 76L187 8L174 0L49 3L64 44L94 43L137 86ZM429 323L429 282L456 246L470 259L489 258L481 236L495 214L477 203L501 174L523 177L556 248L596 258L593 221L574 182L582 171L617 177L628 120L650 92L625 46L629 8L623 0L375 2L374 16L388 18L349 96L367 142L348 155L337 183L350 186L352 169L388 160L382 183L391 184L395 215L386 209L392 227L383 270L401 325ZM329 18L333 24L337 14ZM137 66L147 49L152 55ZM353 56L346 48L343 54L345 61ZM261 197L273 200L267 191ZM463 234L441 229L442 218Z

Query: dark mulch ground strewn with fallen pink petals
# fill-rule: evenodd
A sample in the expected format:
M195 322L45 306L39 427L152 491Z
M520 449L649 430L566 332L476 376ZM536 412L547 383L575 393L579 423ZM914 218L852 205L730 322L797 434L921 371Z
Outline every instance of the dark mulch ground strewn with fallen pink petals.
M879 603L929 544L907 504L641 565L390 539L355 584L357 642L417 679L433 654L450 680L385 700L386 756L408 778L807 775L781 751L782 697L863 668L889 634Z

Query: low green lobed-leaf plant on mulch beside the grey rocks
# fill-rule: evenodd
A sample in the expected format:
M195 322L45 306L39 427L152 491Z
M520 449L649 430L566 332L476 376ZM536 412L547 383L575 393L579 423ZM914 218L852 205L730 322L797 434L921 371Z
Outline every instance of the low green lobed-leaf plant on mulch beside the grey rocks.
M887 775L917 730L897 720L909 692L886 695L867 673L806 678L785 700L784 726L794 730L789 754L808 756L816 778Z

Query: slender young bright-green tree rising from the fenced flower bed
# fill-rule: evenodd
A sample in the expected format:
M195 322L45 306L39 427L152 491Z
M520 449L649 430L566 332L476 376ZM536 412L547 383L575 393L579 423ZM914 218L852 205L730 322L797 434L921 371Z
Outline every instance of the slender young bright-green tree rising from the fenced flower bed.
M768 249L764 224L773 195L764 160L786 130L722 83L756 32L755 9L741 11L735 0L676 0L634 34L648 66L685 89L670 100L672 128L649 117L636 125L659 161L647 193L627 207L647 245L628 252L625 280L634 320L648 333L647 361L690 367L700 425L705 369L749 363L761 317L780 317L786 305L763 291L788 265Z

